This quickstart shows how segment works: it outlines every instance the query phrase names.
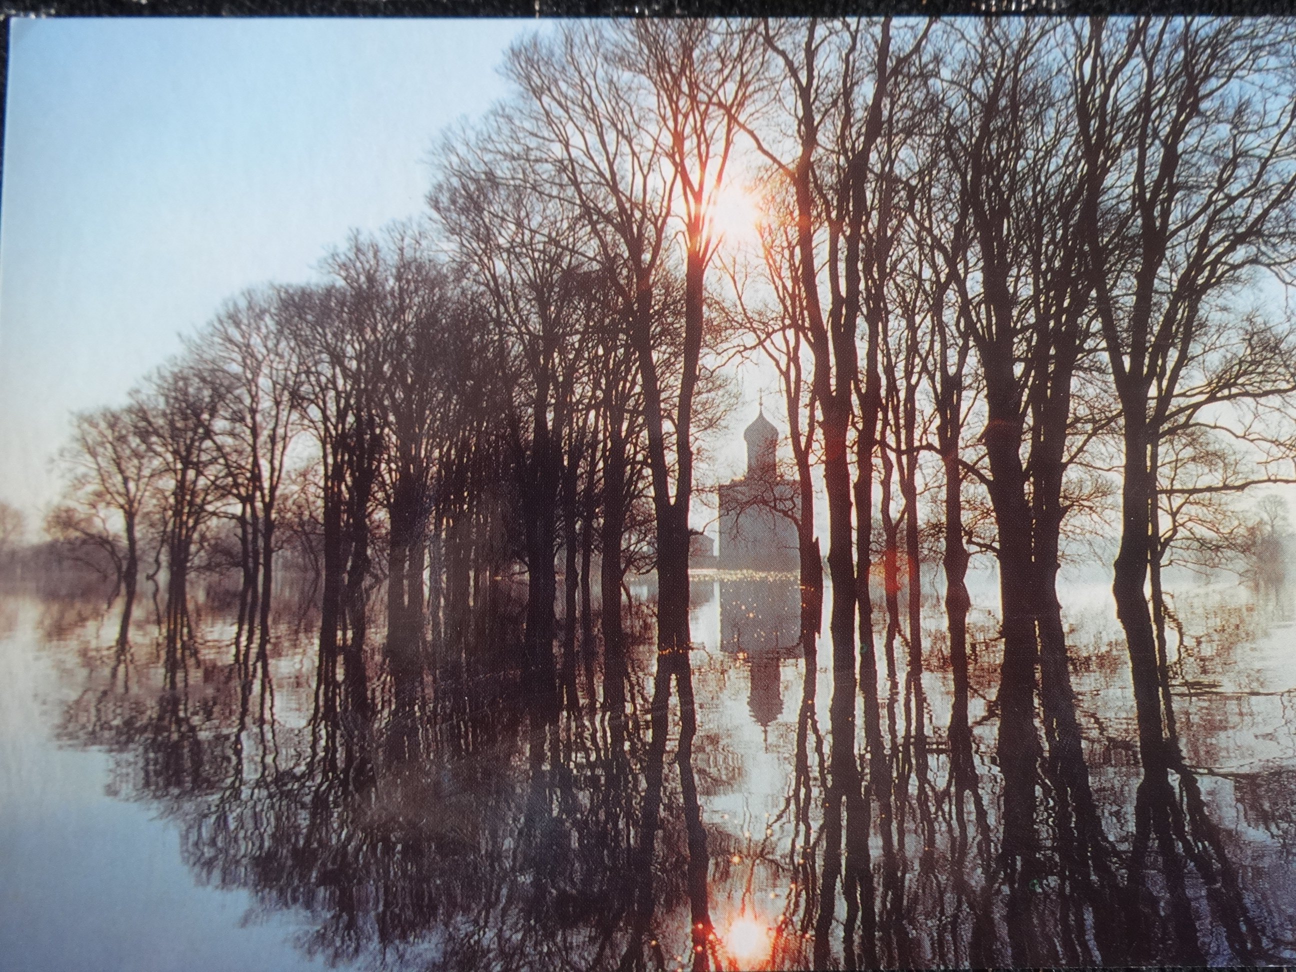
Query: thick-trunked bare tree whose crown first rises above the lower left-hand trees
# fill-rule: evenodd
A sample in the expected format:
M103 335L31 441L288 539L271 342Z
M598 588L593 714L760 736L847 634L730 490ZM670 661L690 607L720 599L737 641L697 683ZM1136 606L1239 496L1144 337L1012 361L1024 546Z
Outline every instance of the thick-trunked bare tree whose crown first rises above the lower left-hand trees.
M522 667L542 705L556 704L555 600L564 442L578 424L594 330L586 327L582 224L568 200L533 183L513 152L513 124L443 149L433 206L465 271L487 302L491 358L504 378L500 404L526 531L527 626ZM524 143L525 145L525 143Z

